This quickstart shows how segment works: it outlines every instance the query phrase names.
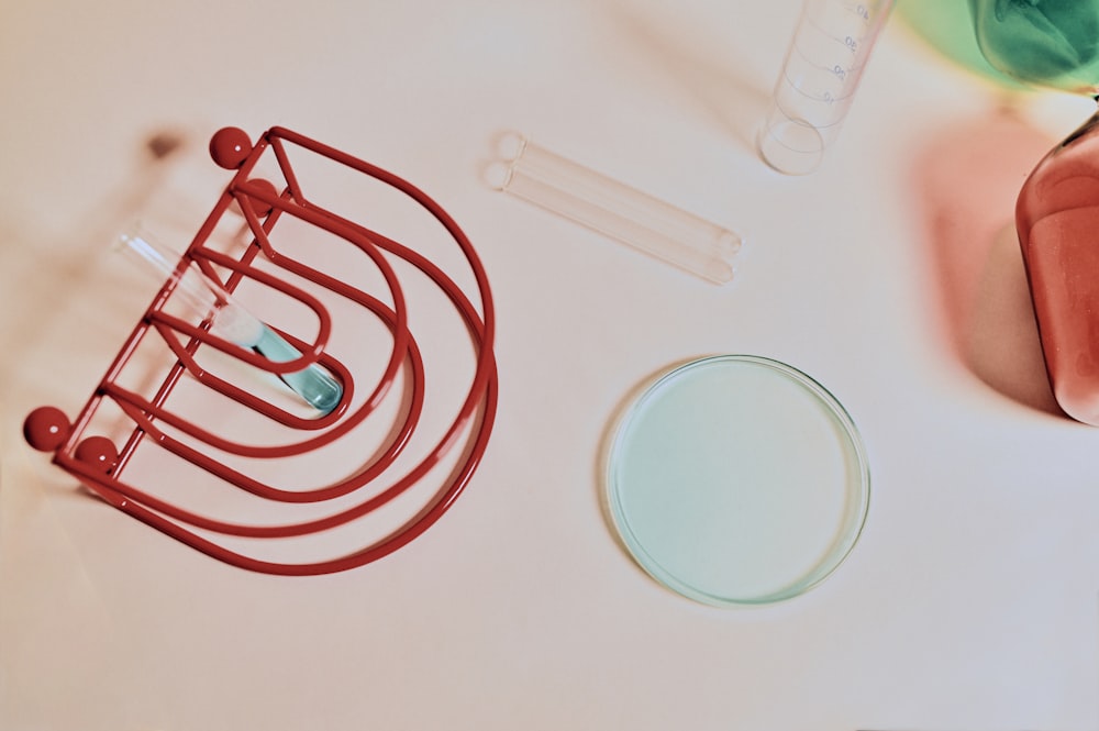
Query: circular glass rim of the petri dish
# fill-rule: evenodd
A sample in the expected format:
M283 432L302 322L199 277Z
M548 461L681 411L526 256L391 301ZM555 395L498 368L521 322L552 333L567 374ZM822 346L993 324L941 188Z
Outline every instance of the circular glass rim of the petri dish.
M646 549L632 530L630 520L622 507L622 487L618 477L620 473L620 452L635 419L644 412L645 407L653 399L664 395L669 386L675 385L685 376L701 368L722 364L764 368L769 373L785 377L788 381L800 387L806 392L806 396L814 399L815 406L822 408L834 420L839 427L840 433L837 436L841 440L836 446L846 452L852 463L846 494L848 499L853 498L853 506L844 511L845 530L830 544L829 550L823 552L820 561L811 565L802 574L801 579L791 582L771 592L758 595L718 594L695 586L690 582L680 578L674 572L666 569L659 561L650 554L648 549ZM839 399L814 378L793 366L769 357L745 354L712 355L690 361L662 373L647 387L642 389L640 396L632 399L625 407L613 429L607 450L603 498L608 514L623 546L633 557L634 562L659 584L689 599L717 607L769 605L792 599L819 586L846 561L847 556L854 550L858 539L862 536L869 512L869 461L862 435L851 414Z

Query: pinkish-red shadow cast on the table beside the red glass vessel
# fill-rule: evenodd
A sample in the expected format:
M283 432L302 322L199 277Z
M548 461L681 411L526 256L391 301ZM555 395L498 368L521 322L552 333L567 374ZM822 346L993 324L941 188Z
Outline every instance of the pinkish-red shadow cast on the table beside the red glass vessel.
M1019 190L1056 142L1006 110L967 120L919 151L913 184L944 347L1003 396L1061 414L1014 229Z

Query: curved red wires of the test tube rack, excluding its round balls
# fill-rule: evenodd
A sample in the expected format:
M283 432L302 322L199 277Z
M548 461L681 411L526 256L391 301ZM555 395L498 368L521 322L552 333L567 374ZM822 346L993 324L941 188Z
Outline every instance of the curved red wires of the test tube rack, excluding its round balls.
M480 314L478 314L477 308L470 302L466 293L444 272L424 256L391 239L309 202L290 166L285 148L286 143L295 144L315 154L323 155L387 184L411 198L434 217L458 245L473 272L480 300ZM271 190L269 187L249 184L248 180L249 173L268 146L275 153L280 170L287 181L287 189L281 193L277 190ZM249 247L241 261L227 257L203 245L220 217L234 201L244 213L251 233L254 235L256 242L256 245ZM260 209L256 206L257 202L263 204L263 210L269 212L262 215L259 213ZM381 300L346 283L280 254L271 245L268 233L279 217L284 214L293 215L307 223L320 226L362 250L375 262L385 277L393 306L390 308L381 302ZM146 438L152 438L169 452L237 488L262 498L282 502L319 502L342 497L354 492L380 477L410 440L419 421L424 401L422 357L415 340L408 330L404 297L400 283L385 254L398 256L412 264L447 296L452 306L458 311L466 323L477 351L477 365L473 381L457 416L443 436L419 464L385 489L375 492L371 497L357 505L319 519L279 525L231 523L202 516L176 506L163 498L155 497L119 478L134 450ZM213 212L200 228L191 246L188 248L187 255L203 268L207 274L213 273L210 267L211 263L231 270L231 276L224 283L226 289L230 291L236 287L241 279L248 277L255 278L262 284L275 287L306 302L307 306L314 310L321 323L317 341L314 343L303 343L287 333L280 332L303 355L293 362L273 364L211 334L208 331L209 323L206 323L203 328L196 328L164 313L160 308L170 295L170 286L166 285L165 289L162 290L160 295L158 295L157 299L149 307L145 319L138 323L130 339L124 343L119 355L108 369L107 375L101 380L96 394L75 420L69 436L65 440L65 444L55 451L54 461L77 476L89 489L123 512L219 561L262 573L314 575L363 566L408 544L434 524L451 508L479 465L492 431L498 398L496 361L492 355L495 310L491 290L480 258L457 223L439 203L402 178L290 130L273 128L253 146L248 157L240 166L233 181L215 204ZM386 372L364 405L355 411L348 412L348 403L353 392L352 374L343 364L324 353L329 321L323 304L299 288L251 266L251 262L259 255L265 256L276 266L293 275L325 287L367 308L392 333L392 353ZM168 377L152 400L144 399L115 383L115 378L136 350L138 342L149 330L158 333L178 358L176 366L170 370ZM176 332L186 335L188 341L185 343L179 340L175 335ZM213 374L206 373L193 358L193 354L200 344L212 345L271 373L287 373L304 367L310 363L320 363L333 373L337 379L343 381L345 386L343 399L340 406L325 417L315 420L301 419L225 383L213 376ZM284 490L266 485L230 468L227 465L171 436L157 425L157 422L164 422L203 443L240 455L274 457L303 454L335 441L360 423L380 405L402 368L411 370L408 379L411 395L408 406L404 408L400 427L391 432L391 436L384 445L384 448L380 450L380 453L370 463L351 477L323 488L299 491ZM322 429L324 431L296 444L287 445L246 445L224 440L165 408L164 403L168 394L185 372L190 372L200 383L285 425L306 431ZM119 452L119 458L115 462L114 468L108 474L103 474L95 465L75 456L75 447L84 429L89 423L99 402L104 398L109 398L118 403L122 411L136 424L133 434ZM463 442L463 436L466 436L465 442ZM241 538L279 539L307 535L343 525L386 505L423 479L459 442L466 444L466 452L463 455L463 459L449 473L448 479L439 489L434 499L425 505L411 520L389 533L386 538L353 553L311 563L279 563L242 554L195 532L196 530L202 530Z

